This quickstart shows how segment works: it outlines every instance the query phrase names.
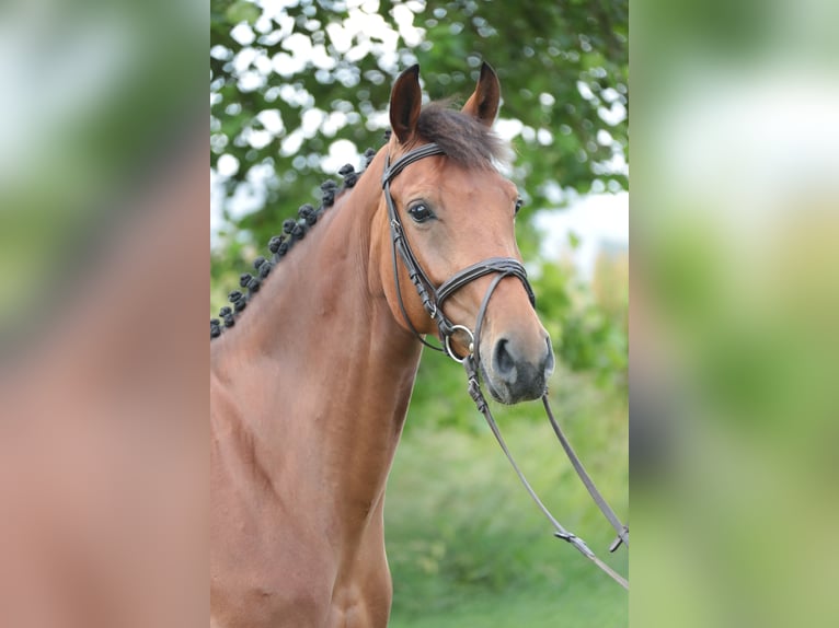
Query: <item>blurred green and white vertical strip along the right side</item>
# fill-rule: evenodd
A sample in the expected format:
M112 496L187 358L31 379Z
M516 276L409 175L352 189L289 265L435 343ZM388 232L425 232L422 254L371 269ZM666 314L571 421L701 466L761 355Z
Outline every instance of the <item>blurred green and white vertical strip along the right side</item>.
M836 626L839 7L633 19L632 624Z

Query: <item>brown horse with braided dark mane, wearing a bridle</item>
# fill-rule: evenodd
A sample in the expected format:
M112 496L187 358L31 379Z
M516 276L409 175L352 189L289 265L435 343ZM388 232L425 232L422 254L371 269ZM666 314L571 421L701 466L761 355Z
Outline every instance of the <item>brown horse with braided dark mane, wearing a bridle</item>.
M326 186L321 210L287 221L273 259L242 278L261 294L232 294L225 333L211 324L211 626L387 625L384 486L417 335L479 350L499 402L544 392L553 356L518 261L518 195L495 167L499 97L484 65L461 112L422 108L418 68L405 71L389 142L352 190Z

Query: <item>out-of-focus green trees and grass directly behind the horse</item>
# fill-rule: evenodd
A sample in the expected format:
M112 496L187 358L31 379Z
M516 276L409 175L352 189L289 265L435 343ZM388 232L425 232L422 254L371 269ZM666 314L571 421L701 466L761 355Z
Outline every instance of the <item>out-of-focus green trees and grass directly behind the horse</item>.
M625 516L628 255L582 272L586 243L572 231L544 246L537 217L628 189L627 3L212 0L210 35L211 312L323 178L381 146L401 70L420 62L430 98L463 102L493 65L527 201L519 245L560 358L551 395ZM628 573L541 405L496 415L558 519ZM553 538L482 420L462 370L425 356L387 497L392 625L627 626L627 593Z

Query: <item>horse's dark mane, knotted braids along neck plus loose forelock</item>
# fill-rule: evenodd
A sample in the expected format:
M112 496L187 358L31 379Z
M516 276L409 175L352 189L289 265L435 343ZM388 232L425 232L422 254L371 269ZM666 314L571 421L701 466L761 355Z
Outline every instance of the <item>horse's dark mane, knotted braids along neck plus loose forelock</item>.
M508 149L504 141L480 120L448 108L448 102L429 103L420 114L417 120L420 139L435 142L446 155L466 167L490 167L495 162L508 161ZM386 131L386 141L390 130ZM376 151L367 149L364 153L365 170L370 165ZM255 275L244 272L239 278L242 290L233 290L228 294L230 305L219 310L218 318L210 318L210 339L218 338L221 333L235 325L237 316L246 307L253 295L260 291L262 282L273 268L296 242L302 240L308 231L318 222L323 212L335 203L338 194L355 186L361 173L355 172L352 164L343 166L338 174L344 177L344 186L326 179L321 184L321 205L318 209L306 203L297 210L297 219L289 218L283 222L283 233L268 241L269 257L258 256L253 260Z

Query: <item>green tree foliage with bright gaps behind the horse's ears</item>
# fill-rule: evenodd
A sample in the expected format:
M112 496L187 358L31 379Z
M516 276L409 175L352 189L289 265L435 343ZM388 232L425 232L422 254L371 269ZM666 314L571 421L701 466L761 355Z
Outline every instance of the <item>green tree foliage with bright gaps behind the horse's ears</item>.
M211 2L210 165L225 154L238 164L228 200L265 182L262 209L237 225L261 240L320 183L331 144L381 144L392 80L413 62L434 100L468 96L481 61L494 66L531 207L555 205L556 186L627 188L611 162L628 150L624 0L276 7Z

